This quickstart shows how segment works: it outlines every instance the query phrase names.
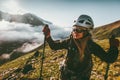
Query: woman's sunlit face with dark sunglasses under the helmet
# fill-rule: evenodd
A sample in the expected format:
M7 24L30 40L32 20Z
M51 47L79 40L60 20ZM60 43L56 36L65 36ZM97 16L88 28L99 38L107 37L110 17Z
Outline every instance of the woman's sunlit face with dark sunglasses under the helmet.
M81 39L84 36L84 31L86 28L73 26L72 36L74 39Z

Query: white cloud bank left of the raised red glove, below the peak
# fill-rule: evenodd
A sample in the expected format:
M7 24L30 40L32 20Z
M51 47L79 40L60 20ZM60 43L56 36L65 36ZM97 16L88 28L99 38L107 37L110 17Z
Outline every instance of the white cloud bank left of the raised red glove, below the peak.
M43 37L42 27L31 27L29 24L0 22L0 41L17 41L27 39L38 39Z

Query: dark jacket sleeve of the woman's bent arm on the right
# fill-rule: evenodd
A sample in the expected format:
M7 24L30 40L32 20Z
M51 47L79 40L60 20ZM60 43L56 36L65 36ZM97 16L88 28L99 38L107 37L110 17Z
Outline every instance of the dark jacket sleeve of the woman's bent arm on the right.
M111 46L109 50L105 52L105 50L95 42L91 41L89 44L91 53L107 63L115 62L118 57L118 48L115 46Z

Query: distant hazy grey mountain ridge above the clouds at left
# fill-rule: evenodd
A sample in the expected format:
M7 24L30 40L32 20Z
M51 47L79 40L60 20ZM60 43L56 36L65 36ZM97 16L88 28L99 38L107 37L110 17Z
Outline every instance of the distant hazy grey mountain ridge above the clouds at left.
M37 17L36 15L31 13L26 13L23 15L12 15L12 14L0 11L0 20L31 24L32 26L39 26L46 23L52 24L51 22L43 20L42 18Z

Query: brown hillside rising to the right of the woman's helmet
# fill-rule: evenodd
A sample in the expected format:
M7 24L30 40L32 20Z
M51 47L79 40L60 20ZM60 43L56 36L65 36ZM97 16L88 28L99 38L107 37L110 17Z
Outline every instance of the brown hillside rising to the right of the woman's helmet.
M116 37L120 37L120 20L97 27L93 30L94 39L107 39L112 34Z

